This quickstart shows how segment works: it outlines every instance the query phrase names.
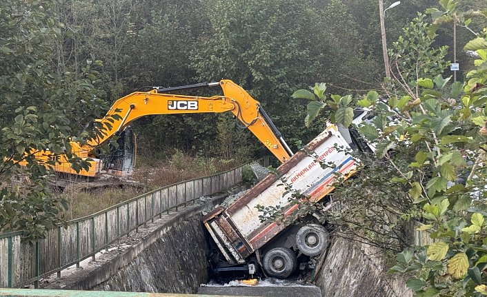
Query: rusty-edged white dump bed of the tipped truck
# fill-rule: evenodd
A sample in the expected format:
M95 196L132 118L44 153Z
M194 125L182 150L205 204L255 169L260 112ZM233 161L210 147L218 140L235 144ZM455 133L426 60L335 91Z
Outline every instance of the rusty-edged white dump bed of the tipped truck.
M292 193L286 193L283 183L310 201L319 201L335 189L337 176L348 178L355 172L356 161L349 152L350 146L337 127L331 125L277 168L280 177L268 174L230 206L217 207L204 216L204 225L228 263L245 263L248 256L286 227L273 222L261 223L257 205L280 205L284 214L295 212L298 205L288 201ZM333 165L323 168L318 161Z

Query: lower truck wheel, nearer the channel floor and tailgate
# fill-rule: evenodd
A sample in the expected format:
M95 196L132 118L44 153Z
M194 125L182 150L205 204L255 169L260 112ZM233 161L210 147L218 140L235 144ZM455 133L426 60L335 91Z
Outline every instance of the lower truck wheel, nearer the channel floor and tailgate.
M287 247L275 247L264 256L262 266L268 276L287 278L295 271L297 259Z

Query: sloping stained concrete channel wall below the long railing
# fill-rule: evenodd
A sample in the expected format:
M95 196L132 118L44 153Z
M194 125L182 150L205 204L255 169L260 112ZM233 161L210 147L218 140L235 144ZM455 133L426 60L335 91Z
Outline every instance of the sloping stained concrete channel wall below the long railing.
M227 195L172 212L121 240L120 249L44 289L144 291L195 294L208 282L208 240L199 218ZM128 246L123 248L124 246Z

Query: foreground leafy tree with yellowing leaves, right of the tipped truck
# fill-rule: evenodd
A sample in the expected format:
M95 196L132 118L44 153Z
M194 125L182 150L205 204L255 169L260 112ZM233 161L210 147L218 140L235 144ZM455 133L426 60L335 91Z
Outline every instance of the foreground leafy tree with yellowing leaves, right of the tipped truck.
M440 2L448 6L454 3ZM419 45L432 44L425 37L428 26L413 23L413 31L416 37L423 36ZM349 180L342 190L335 192L339 198L341 193L350 194L347 188L350 185L352 189L361 189L354 195L358 196L357 201L349 203L355 208L336 220L348 227L345 232L358 230L351 233L355 239L387 248L406 246L397 254L397 265L390 272L413 274L407 285L416 296L487 295L486 278L482 274L487 267L486 30L477 36L464 47L477 52L476 68L468 72L465 83L452 83L450 77L442 77L441 51L434 53L424 48L416 55L419 59L412 61L414 67L397 68L395 88L384 86L388 101L378 100L373 92L357 101L357 108L367 107L375 114L372 121L362 123L357 129L367 141L375 143L375 162L381 162L381 167L373 170L368 158L360 156L366 161L367 175ZM396 50L417 50L418 42L411 42L416 37L406 34ZM405 52L399 51L397 61L406 57ZM406 60L404 65L408 63ZM408 74L408 69L415 69L413 75ZM298 94L302 95L303 91ZM346 96L319 101L319 107L333 108L332 121L350 125L351 114L345 104L350 100ZM308 117L316 116L317 110L310 110ZM383 183L379 188L377 180ZM377 190L381 192L379 201L373 192ZM388 216L395 218L384 221ZM400 237L384 241L398 225L389 225L394 221L403 222L403 226L409 222L419 232L428 230L435 242L423 247L410 245L407 240L401 242Z

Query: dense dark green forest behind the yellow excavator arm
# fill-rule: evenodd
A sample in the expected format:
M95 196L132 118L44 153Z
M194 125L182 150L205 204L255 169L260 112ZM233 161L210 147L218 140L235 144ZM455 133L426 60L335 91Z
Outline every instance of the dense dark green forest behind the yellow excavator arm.
M406 0L388 10L388 42L417 12L437 5ZM146 85L232 79L261 102L293 150L321 129L319 122L304 126L306 102L291 99L294 90L324 81L332 93L367 92L380 90L384 78L375 0L56 0L52 9L63 24L52 45L58 72L81 74L94 55L103 61L94 85L108 103ZM466 43L461 30L459 43ZM437 42L450 45L451 32L441 29ZM175 149L227 158L266 154L229 114L148 116L134 127L141 157Z

